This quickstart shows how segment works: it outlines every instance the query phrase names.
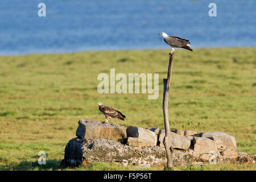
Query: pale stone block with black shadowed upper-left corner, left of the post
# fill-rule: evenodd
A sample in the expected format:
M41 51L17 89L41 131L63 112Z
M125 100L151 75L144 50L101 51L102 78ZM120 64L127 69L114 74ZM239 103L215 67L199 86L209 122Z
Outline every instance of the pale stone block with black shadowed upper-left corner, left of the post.
M126 133L128 137L127 144L131 146L156 146L158 142L157 136L153 131L142 127L129 126L126 129Z

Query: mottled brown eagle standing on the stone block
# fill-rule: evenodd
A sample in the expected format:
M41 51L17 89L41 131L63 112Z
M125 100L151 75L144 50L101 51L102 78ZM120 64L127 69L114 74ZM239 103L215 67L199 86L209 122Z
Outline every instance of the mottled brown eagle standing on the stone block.
M97 103L98 109L100 109L101 113L105 115L105 123L109 123L110 118L118 118L125 120L125 115L123 115L120 111L113 109L109 106L104 106L101 102Z

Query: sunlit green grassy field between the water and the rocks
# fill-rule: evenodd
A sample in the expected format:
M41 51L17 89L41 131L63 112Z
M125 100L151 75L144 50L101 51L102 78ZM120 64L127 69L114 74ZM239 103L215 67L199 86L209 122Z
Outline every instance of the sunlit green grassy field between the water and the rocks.
M121 110L124 126L164 127L163 78L169 50L100 51L0 56L0 170L59 169L65 144L79 119L104 121L97 102ZM237 150L256 154L256 48L176 51L169 97L171 127L221 131L236 137ZM159 97L100 94L99 73L159 73ZM201 128L187 123L201 123ZM31 168L47 154L48 165ZM77 170L137 169L93 163ZM150 168L158 170L160 168ZM177 167L177 170L190 170ZM201 168L194 167L192 170ZM218 164L205 170L256 170Z

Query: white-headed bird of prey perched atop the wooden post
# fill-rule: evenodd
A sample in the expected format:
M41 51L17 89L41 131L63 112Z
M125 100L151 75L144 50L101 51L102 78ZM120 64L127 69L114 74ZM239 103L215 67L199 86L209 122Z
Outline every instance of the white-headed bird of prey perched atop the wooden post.
M175 51L177 48L188 49L189 51L193 51L190 48L190 42L186 39L178 38L177 36L168 36L166 33L162 32L159 35L162 35L164 38L164 42L166 42L169 46L172 47L172 51Z

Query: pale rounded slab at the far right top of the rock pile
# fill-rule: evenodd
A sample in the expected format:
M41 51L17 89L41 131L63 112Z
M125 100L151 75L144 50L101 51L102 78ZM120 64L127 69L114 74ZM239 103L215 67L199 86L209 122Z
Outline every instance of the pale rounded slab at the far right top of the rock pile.
M200 137L213 138L214 141L220 140L230 150L237 150L236 139L231 135L222 132L206 132L200 133Z

